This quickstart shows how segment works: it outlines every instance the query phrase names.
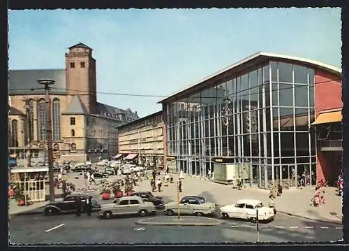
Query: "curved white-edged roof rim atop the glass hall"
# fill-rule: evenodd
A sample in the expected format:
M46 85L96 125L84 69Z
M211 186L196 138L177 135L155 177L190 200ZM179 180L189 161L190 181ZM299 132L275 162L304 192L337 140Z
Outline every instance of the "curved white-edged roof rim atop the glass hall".
M246 57L245 59L242 59L239 62L232 64L226 67L225 69L222 69L221 71L217 71L216 73L213 73L207 76L206 78L199 80L198 82L180 90L179 92L174 92L174 94L171 94L165 99L158 101L158 103L165 103L170 99L178 98L183 94L187 94L188 92L193 92L196 89L201 89L205 85L210 85L211 83L214 83L214 81L216 80L225 78L228 75L231 75L232 73L238 73L238 72L244 71L248 67L258 64L259 62L265 62L268 59L292 61L295 63L304 64L306 66L311 66L313 68L322 69L322 70L328 71L329 73L334 73L336 75L341 75L341 72L342 72L341 69L339 68L336 68L329 64L318 62L312 59L305 59L302 57L294 57L290 55L282 55L282 54L276 54L276 53L270 53L270 52L257 52L251 55L250 57Z

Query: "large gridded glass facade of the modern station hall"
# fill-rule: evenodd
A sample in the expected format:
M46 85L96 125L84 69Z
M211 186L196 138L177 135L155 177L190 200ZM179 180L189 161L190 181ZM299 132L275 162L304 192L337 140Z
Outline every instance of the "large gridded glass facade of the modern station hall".
M230 157L252 165L248 182L259 187L315 177L313 69L268 61L165 103L165 111L178 171L207 176L214 157Z

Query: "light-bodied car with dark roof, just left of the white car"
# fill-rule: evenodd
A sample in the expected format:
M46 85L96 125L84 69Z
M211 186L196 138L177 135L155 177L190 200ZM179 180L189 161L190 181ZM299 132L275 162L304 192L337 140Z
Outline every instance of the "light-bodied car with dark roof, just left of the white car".
M177 202L173 201L165 204L164 212L167 215L178 213ZM212 215L216 211L216 204L211 202L202 202L201 199L195 196L186 196L179 201L179 213L182 215Z

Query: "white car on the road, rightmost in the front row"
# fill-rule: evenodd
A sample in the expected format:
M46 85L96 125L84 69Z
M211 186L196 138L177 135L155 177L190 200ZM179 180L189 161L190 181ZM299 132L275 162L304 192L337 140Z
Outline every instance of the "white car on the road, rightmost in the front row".
M238 218L251 220L272 220L275 218L274 208L263 206L262 202L255 199L242 199L235 204L220 208L220 215L223 218Z

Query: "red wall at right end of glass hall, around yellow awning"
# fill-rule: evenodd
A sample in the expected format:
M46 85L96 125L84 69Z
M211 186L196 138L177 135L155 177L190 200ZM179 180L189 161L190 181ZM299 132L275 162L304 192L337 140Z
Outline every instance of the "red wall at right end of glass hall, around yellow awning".
M315 70L315 117L318 117L322 110L329 110L343 107L341 76ZM334 170L334 159L339 152L321 152L320 146L317 150L316 177L317 180L332 178L337 171Z

